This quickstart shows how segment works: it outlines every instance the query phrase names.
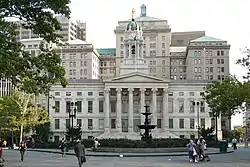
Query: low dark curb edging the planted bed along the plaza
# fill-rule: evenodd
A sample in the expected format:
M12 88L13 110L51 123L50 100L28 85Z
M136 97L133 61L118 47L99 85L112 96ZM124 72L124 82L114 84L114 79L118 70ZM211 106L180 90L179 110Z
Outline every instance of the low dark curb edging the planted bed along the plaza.
M34 151L34 152L43 152L43 153L51 153L51 154L61 154L60 151L48 151L48 150L28 150L28 151ZM218 154L230 154L233 153L234 151L228 151L228 152L211 152L207 153L208 155L218 155ZM74 153L65 153L65 155L75 155ZM120 157L122 153L114 153L114 154L86 154L86 156L92 156L92 157ZM132 153L132 154L124 154L122 157L163 157L163 156L168 156L168 157L177 157L177 156L188 156L187 153L179 153L179 154L138 154L138 153Z

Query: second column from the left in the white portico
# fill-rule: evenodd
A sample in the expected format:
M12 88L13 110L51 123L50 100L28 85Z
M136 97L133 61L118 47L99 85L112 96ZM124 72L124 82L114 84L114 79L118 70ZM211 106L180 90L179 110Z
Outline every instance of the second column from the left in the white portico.
M122 89L116 89L116 122L117 122L117 131L122 131L122 96L121 96Z

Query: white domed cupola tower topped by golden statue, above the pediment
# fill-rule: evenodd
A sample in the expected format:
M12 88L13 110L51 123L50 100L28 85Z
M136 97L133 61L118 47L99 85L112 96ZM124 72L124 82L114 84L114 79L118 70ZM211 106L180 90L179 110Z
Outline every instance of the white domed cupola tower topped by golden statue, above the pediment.
M143 57L144 40L142 29L134 19L134 9L132 10L132 19L126 26L125 40L121 59L120 74L131 72L141 72L148 74L148 64Z

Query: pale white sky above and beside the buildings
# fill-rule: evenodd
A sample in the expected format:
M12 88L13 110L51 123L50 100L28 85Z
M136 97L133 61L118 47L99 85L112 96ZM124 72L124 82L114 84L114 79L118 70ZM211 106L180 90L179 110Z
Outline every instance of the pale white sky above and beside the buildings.
M207 36L228 41L230 73L239 79L246 70L235 64L243 55L241 48L250 45L247 16L249 0L71 0L71 18L87 23L87 42L96 48L115 48L114 29L118 21L140 16L140 6L147 15L168 20L172 32L205 30ZM242 114L232 118L232 126L242 124Z

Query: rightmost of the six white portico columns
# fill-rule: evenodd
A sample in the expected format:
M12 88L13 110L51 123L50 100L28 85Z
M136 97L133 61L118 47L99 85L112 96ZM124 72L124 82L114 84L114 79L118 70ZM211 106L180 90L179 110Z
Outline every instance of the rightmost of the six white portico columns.
M169 113L168 113L168 89L163 89L163 100L162 100L162 128L166 132L169 124Z

